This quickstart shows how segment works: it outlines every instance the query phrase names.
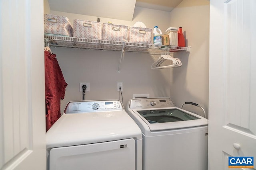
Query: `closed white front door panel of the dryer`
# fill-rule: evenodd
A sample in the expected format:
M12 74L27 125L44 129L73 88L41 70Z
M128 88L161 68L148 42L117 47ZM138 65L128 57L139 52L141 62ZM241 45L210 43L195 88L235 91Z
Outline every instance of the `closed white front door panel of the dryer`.
M50 150L50 170L134 170L135 140L59 147Z

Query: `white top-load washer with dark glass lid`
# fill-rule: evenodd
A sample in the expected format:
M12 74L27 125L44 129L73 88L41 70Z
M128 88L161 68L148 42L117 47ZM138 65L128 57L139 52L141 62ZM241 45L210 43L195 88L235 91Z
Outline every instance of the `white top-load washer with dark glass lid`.
M207 119L170 98L131 99L126 109L142 131L143 170L207 170Z

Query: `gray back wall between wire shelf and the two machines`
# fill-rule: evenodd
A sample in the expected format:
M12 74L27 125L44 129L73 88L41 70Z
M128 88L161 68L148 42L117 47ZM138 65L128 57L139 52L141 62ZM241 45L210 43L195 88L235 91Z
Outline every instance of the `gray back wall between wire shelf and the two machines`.
M150 94L150 97L170 96L169 70L152 70L154 60L148 54L125 53L120 73L117 68L120 52L84 49L53 48L68 86L62 101L82 100L80 82L90 82L86 100L121 99L117 82L123 83L123 104L126 106L133 94Z

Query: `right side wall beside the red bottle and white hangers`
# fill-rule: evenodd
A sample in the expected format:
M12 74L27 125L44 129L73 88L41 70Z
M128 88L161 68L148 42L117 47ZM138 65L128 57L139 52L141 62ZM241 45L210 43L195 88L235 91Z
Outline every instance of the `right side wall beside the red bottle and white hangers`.
M172 10L170 17L170 26L182 26L186 46L191 46L189 55L175 53L175 57L182 61L182 67L170 70L171 98L178 107L187 101L195 102L208 112L209 1L183 0ZM200 109L186 109L202 113Z

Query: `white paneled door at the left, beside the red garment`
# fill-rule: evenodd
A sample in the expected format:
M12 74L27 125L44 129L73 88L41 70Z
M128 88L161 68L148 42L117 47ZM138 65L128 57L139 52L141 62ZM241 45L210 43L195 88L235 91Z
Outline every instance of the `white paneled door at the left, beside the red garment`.
M45 170L42 0L0 0L0 169Z

